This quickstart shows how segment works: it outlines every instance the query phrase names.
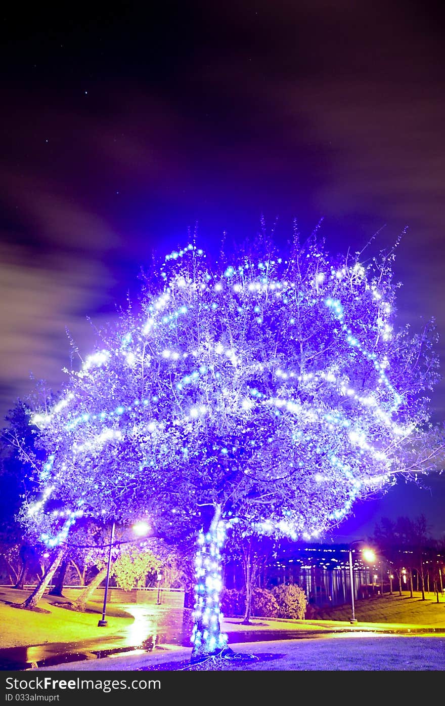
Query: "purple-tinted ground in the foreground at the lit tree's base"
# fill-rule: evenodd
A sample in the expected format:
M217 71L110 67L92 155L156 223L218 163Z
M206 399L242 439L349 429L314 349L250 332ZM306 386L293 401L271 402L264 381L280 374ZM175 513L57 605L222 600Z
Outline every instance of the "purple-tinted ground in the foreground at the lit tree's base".
M300 640L267 640L233 643L238 653L251 654L249 662L207 663L190 670L190 649L184 647L157 648L153 652L120 654L104 659L42 667L57 671L443 671L445 669L445 637L343 635Z

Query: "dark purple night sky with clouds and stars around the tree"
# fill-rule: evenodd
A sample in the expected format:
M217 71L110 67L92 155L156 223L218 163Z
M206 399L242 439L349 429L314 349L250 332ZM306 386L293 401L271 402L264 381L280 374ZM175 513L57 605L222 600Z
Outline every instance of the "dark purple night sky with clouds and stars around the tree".
M141 265L293 218L331 251L394 244L398 318L434 316L445 361L445 68L434 6L336 0L2 11L0 414L87 354ZM444 364L442 364L442 370ZM445 381L432 395L445 418ZM358 506L445 537L445 474Z

